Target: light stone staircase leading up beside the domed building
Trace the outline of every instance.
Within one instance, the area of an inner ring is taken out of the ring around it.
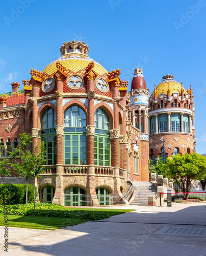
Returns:
[[[137,193],[131,203],[131,205],[148,205],[148,194],[155,195],[157,188],[155,185],[147,181],[134,181],[134,187],[137,188]]]

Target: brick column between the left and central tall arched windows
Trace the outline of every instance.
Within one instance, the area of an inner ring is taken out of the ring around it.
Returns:
[[[63,174],[64,164],[64,121],[63,121],[63,76],[56,78],[57,85],[57,125],[56,125],[56,136],[57,136],[57,174]]]

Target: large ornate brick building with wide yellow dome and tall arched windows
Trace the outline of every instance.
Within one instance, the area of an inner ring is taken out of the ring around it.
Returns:
[[[35,181],[42,202],[110,204],[122,200],[131,176],[149,181],[149,92],[142,69],[127,94],[120,70],[108,72],[88,51],[84,41],[65,42],[60,58],[42,72],[31,70],[24,90],[14,82],[12,93],[0,95],[2,157],[23,132],[32,135],[33,147],[45,142],[45,173]],[[13,173],[0,182],[23,179]]]

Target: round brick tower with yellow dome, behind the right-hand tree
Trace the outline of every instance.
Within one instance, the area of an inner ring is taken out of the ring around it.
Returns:
[[[149,157],[171,157],[195,152],[194,101],[190,86],[185,90],[173,75],[163,81],[149,97]],[[164,142],[164,150],[163,150]]]

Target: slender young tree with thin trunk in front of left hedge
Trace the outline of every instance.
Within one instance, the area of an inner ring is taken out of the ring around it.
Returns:
[[[32,143],[32,136],[25,133],[20,134],[20,146],[14,148],[14,152],[10,153],[10,156],[14,158],[14,163],[10,163],[16,172],[25,177],[26,180],[26,204],[28,204],[28,180],[34,178],[34,209],[35,209],[35,178],[39,174],[44,172],[45,164],[45,147],[44,142],[41,143],[41,147],[36,146],[34,152],[27,150],[27,147]],[[20,161],[19,161],[20,159]]]

